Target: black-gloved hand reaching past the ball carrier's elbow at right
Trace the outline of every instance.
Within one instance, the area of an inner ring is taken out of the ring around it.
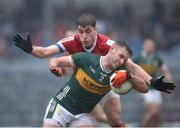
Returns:
[[[164,76],[158,77],[157,79],[150,80],[151,86],[156,90],[171,93],[175,89],[175,85],[173,82],[165,82],[163,81]]]

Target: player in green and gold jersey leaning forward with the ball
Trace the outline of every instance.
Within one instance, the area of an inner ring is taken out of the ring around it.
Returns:
[[[50,70],[58,66],[76,68],[67,84],[53,97],[55,105],[48,107],[45,121],[56,120],[61,126],[66,126],[77,116],[93,110],[101,98],[111,90],[109,78],[112,73],[123,66],[130,57],[130,50],[125,43],[121,43],[115,43],[105,56],[78,53],[50,59]],[[147,92],[148,87],[141,78],[131,74],[131,79],[137,82],[140,91]]]

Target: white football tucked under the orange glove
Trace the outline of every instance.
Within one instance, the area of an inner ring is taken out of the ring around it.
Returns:
[[[113,73],[110,77],[110,86],[113,92],[123,95],[123,94],[127,94],[129,91],[131,91],[132,89],[132,84],[128,81],[125,81],[122,85],[119,85],[119,87],[115,88],[112,86],[112,82],[111,80],[116,76],[116,73]]]

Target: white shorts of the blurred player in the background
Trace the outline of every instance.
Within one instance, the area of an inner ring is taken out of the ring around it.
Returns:
[[[154,89],[149,90],[148,93],[142,94],[144,98],[145,104],[155,103],[161,104],[162,103],[162,95],[161,92],[156,91]]]

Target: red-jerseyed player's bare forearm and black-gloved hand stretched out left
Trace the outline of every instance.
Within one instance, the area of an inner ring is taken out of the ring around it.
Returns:
[[[47,58],[59,53],[59,49],[55,45],[48,47],[33,46],[29,34],[27,34],[26,38],[23,38],[20,34],[16,34],[13,37],[13,41],[18,48],[37,58]]]

